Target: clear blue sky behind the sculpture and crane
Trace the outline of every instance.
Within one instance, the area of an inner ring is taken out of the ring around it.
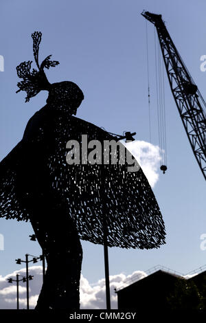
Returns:
[[[206,54],[205,1],[59,0],[1,1],[0,72],[1,146],[3,159],[21,140],[27,120],[45,105],[46,92],[29,103],[15,93],[16,65],[33,60],[31,34],[43,32],[40,61],[52,54],[60,65],[47,71],[49,82],[71,80],[84,92],[77,116],[113,133],[136,131],[149,141],[146,75],[146,22],[142,10],[163,15],[185,65],[206,99],[206,72],[200,58]],[[148,23],[152,144],[158,145],[155,95],[154,27]],[[146,270],[164,265],[186,273],[206,263],[200,236],[206,233],[205,180],[190,148],[172,93],[165,78],[168,171],[159,174],[154,192],[163,214],[166,245],[155,250],[109,248],[110,274]],[[0,219],[5,250],[0,251],[0,275],[19,269],[15,258],[38,255],[31,242],[30,223]],[[89,282],[104,277],[103,247],[82,241],[82,274]]]

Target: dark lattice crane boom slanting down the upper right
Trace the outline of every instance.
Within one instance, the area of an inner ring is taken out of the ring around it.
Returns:
[[[196,161],[206,180],[206,104],[177,51],[161,14],[142,12],[157,29],[170,88]]]

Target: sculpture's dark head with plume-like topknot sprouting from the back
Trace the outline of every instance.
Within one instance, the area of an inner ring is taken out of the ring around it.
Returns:
[[[66,110],[69,114],[75,114],[84,99],[82,90],[73,82],[65,81],[50,84],[47,80],[44,68],[55,67],[59,64],[57,60],[50,60],[52,55],[49,55],[43,60],[41,65],[38,64],[38,49],[41,43],[41,32],[34,32],[33,38],[33,52],[34,59],[36,61],[37,69],[31,69],[32,61],[21,63],[16,67],[17,75],[19,78],[23,78],[21,82],[18,82],[17,86],[19,90],[26,91],[27,97],[25,102],[28,102],[30,98],[36,96],[41,90],[49,91],[47,98],[47,104],[50,107]]]

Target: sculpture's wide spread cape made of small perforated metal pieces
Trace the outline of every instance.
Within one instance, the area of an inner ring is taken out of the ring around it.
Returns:
[[[163,219],[141,168],[128,172],[127,164],[104,165],[102,174],[102,165],[67,164],[67,142],[81,142],[86,134],[88,142],[113,139],[98,126],[47,106],[35,113],[21,142],[0,163],[0,216],[27,221],[30,212],[21,196],[58,195],[83,240],[103,244],[104,223],[110,247],[163,245]]]

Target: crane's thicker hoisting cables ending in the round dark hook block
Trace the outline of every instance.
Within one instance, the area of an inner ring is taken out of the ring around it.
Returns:
[[[166,122],[165,122],[165,87],[164,87],[164,66],[161,55],[160,45],[157,43],[155,31],[155,74],[156,74],[156,91],[157,91],[157,120],[159,134],[159,153],[160,168],[165,173],[167,169],[167,142],[166,142]]]

